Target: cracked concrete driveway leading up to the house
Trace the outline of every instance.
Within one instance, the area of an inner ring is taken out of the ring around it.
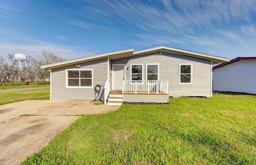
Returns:
[[[106,113],[119,107],[81,100],[26,100],[0,105],[0,165],[19,164],[38,152],[80,117],[76,115]]]

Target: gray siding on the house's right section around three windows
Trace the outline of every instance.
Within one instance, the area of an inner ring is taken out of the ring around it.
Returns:
[[[143,80],[146,80],[146,64],[159,64],[160,80],[168,80],[170,97],[206,96],[211,97],[211,61],[186,55],[154,52],[112,60],[112,64],[125,64],[126,80],[130,80],[130,64],[144,64]],[[192,84],[179,84],[179,64],[193,64]]]

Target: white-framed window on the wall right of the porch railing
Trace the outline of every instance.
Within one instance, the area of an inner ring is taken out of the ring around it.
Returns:
[[[192,84],[192,64],[180,64],[180,84]]]

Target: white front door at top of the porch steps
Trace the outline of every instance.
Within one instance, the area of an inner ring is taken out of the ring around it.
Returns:
[[[122,90],[124,80],[124,66],[113,65],[113,89]]]

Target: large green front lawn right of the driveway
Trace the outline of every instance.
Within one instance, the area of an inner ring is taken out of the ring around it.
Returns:
[[[172,98],[77,119],[22,164],[255,164],[256,96]]]

